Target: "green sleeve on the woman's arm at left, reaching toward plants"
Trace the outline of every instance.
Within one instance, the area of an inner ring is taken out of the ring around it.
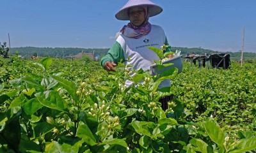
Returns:
[[[101,58],[101,66],[104,66],[106,61],[115,62],[116,64],[120,61],[124,62],[124,50],[117,41],[115,41],[114,45],[109,49],[108,54]]]

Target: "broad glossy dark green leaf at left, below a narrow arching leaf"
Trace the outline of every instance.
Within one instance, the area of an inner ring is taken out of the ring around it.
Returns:
[[[38,92],[35,96],[42,105],[54,110],[65,112],[68,108],[67,102],[56,91]]]

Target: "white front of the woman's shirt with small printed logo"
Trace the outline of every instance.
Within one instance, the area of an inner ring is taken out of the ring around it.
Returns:
[[[143,69],[147,71],[155,61],[159,61],[157,54],[147,47],[159,48],[164,45],[166,35],[159,25],[152,25],[150,33],[141,38],[134,39],[120,34],[116,41],[124,51],[124,58],[126,65],[133,65],[134,69]],[[129,59],[129,60],[128,60]],[[134,76],[135,74],[132,74]],[[130,80],[126,80],[127,87],[132,85]],[[170,87],[170,80],[163,80],[159,88]]]

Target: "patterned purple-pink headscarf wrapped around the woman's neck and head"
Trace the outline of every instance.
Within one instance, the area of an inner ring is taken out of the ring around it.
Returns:
[[[151,24],[148,22],[149,16],[147,6],[142,6],[142,8],[145,10],[144,24],[140,25],[140,27],[137,27],[133,25],[131,22],[129,22],[129,24],[124,25],[124,27],[120,31],[122,34],[124,34],[127,37],[138,39],[142,36],[147,35],[151,31]]]

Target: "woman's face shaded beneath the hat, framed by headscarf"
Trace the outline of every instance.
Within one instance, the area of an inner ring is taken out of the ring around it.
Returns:
[[[135,6],[129,9],[130,22],[139,27],[145,20],[145,10],[140,6]]]

